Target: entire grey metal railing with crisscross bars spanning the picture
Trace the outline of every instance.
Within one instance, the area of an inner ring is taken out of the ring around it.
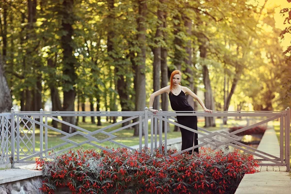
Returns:
[[[228,132],[227,130],[210,131],[207,129],[199,128],[194,130],[178,124],[175,116],[198,116],[198,117],[245,117],[245,118],[264,118],[261,121],[253,122],[254,124],[245,126],[242,129]],[[94,116],[94,117],[108,117],[108,116],[126,116],[127,119],[111,124],[109,126],[90,131],[83,129],[79,126],[75,126],[68,122],[65,122],[58,117],[64,116]],[[252,129],[260,125],[266,125],[268,122],[278,120],[280,123],[280,157],[274,156],[270,153],[263,152],[254,147],[247,146],[240,142],[241,137],[236,134]],[[67,133],[61,129],[57,129],[49,125],[49,121],[67,125],[72,129],[76,129],[76,132]],[[122,123],[129,122],[130,124],[124,127],[120,127]],[[259,160],[264,161],[261,165],[273,165],[273,166],[286,166],[287,171],[290,171],[290,109],[285,111],[274,112],[164,112],[160,111],[157,114],[148,112],[147,108],[141,112],[15,112],[11,109],[11,113],[0,113],[0,164],[7,164],[11,160],[14,162],[34,162],[35,157],[45,157],[49,151],[53,149],[59,149],[59,152],[64,152],[68,149],[73,149],[82,145],[90,145],[109,152],[111,149],[102,146],[104,142],[110,142],[115,146],[126,147],[130,150],[134,148],[115,141],[117,138],[114,133],[128,129],[135,125],[139,129],[139,150],[142,150],[143,146],[148,148],[151,154],[155,149],[162,151],[164,146],[165,153],[167,153],[167,128],[168,124],[176,125],[184,129],[198,133],[199,144],[190,147],[186,150],[181,150],[176,154],[180,154],[184,151],[192,150],[196,147],[212,146],[214,148],[220,146],[231,146],[240,149],[246,153],[257,156]],[[37,126],[39,128],[37,128]],[[113,129],[114,128],[114,129]],[[109,130],[108,130],[109,129]],[[164,129],[164,133],[162,132]],[[39,130],[39,137],[38,131]],[[63,141],[56,146],[49,147],[48,137],[49,130],[55,134],[62,134],[63,137],[59,138],[59,141]],[[150,133],[149,131],[150,130]],[[159,130],[159,131],[158,131]],[[107,136],[106,138],[99,139],[97,135],[102,134]],[[144,139],[143,135],[144,134]],[[150,138],[149,138],[150,134]],[[162,134],[162,135],[159,135]],[[85,138],[81,142],[70,140],[72,137],[81,136]],[[35,139],[39,138],[39,141]],[[220,138],[217,138],[220,137]],[[39,142],[39,143],[38,143]],[[284,147],[285,143],[285,147]],[[39,145],[38,145],[39,144]],[[64,147],[65,146],[65,147]]]

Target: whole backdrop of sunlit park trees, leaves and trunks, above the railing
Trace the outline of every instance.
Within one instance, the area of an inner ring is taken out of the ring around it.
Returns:
[[[39,111],[48,100],[52,111],[85,101],[91,111],[141,111],[180,69],[182,85],[203,91],[210,109],[285,109],[291,47],[283,53],[279,37],[291,26],[276,28],[268,3],[3,0],[0,52],[13,103],[22,111]],[[154,106],[168,110],[167,101]]]

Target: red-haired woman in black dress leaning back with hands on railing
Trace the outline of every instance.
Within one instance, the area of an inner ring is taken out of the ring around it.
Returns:
[[[195,98],[199,104],[202,106],[203,110],[207,113],[212,113],[211,110],[207,109],[202,102],[202,100],[197,97],[189,88],[185,86],[181,86],[181,76],[182,73],[179,70],[175,70],[171,74],[170,85],[154,92],[150,95],[149,98],[149,111],[153,113],[157,113],[158,110],[153,109],[153,103],[156,96],[161,95],[163,93],[167,93],[169,95],[171,107],[174,111],[194,111],[192,106],[189,105],[186,94]],[[191,129],[197,130],[197,116],[177,116],[178,123],[189,127]],[[195,141],[195,146],[198,145],[198,135],[197,133],[180,128],[182,135],[182,147],[181,150],[187,149],[193,146],[193,141]],[[198,148],[194,149],[195,152],[199,153]],[[191,151],[189,151],[191,153]]]

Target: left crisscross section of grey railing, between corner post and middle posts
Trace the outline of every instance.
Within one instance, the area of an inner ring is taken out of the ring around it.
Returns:
[[[16,162],[33,162],[32,158],[34,157],[44,157],[51,150],[57,149],[58,152],[64,152],[68,149],[73,149],[78,146],[85,144],[112,152],[111,149],[102,146],[104,142],[111,142],[117,146],[126,147],[128,149],[134,150],[133,148],[114,141],[114,138],[117,136],[114,135],[115,132],[118,132],[123,129],[128,129],[135,125],[139,125],[140,134],[142,134],[142,124],[144,122],[144,117],[142,116],[144,112],[100,112],[100,113],[90,113],[90,112],[40,112],[40,113],[14,113],[16,116]],[[128,118],[119,122],[116,122],[112,125],[106,126],[102,129],[97,129],[95,131],[90,131],[83,129],[79,126],[73,125],[71,123],[65,122],[64,120],[56,118],[57,116],[127,116]],[[62,125],[66,125],[77,131],[73,133],[65,132],[61,129],[54,128],[48,124],[49,120],[54,120]],[[106,131],[107,129],[114,128],[118,125],[121,125],[125,122],[132,121],[131,124],[114,129],[111,131]],[[39,126],[39,151],[35,151],[35,126]],[[62,134],[62,137],[59,137],[59,140],[63,142],[56,146],[49,146],[48,142],[48,130]],[[99,139],[94,137],[98,134],[103,134],[107,136],[105,138]],[[75,142],[72,139],[76,139],[78,136],[79,139],[85,139],[81,142]],[[142,144],[142,136],[140,136],[140,142]]]

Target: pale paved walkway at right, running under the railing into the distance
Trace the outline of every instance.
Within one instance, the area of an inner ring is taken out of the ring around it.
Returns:
[[[276,157],[280,156],[280,146],[274,129],[265,131],[258,149]],[[260,172],[244,175],[235,194],[291,193],[291,177],[285,166],[260,166],[258,170]]]

